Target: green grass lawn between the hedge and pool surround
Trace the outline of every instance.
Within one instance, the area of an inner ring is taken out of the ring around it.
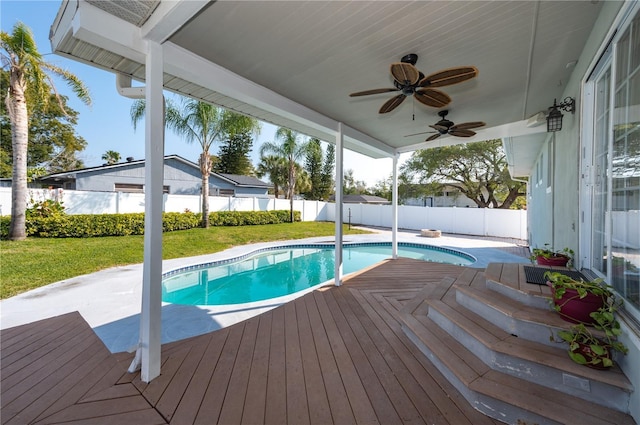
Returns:
[[[211,254],[238,245],[333,235],[327,222],[211,227],[163,235],[164,259]],[[367,233],[344,227],[345,234]],[[143,237],[0,241],[0,298],[114,266],[142,262]]]

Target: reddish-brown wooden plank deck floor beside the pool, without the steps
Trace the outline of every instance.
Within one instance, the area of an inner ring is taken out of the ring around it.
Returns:
[[[398,311],[466,269],[399,259],[163,346],[150,384],[77,314],[1,332],[5,424],[495,424],[412,344]]]

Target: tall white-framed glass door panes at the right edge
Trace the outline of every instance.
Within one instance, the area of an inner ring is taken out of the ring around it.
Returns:
[[[590,80],[589,267],[606,277],[640,319],[640,9]]]

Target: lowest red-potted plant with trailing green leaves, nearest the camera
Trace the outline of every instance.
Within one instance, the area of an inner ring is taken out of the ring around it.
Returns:
[[[569,343],[569,357],[574,362],[594,369],[608,369],[613,366],[613,351],[627,354],[628,348],[617,340],[621,330],[615,312],[621,305],[622,300],[610,298],[603,307],[591,313],[592,328],[579,323],[558,332],[561,340]]]

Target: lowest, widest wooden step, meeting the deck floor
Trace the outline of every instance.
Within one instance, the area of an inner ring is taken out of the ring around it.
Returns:
[[[428,316],[402,312],[401,317],[409,338],[487,416],[512,424],[635,423],[625,413],[491,369]]]

